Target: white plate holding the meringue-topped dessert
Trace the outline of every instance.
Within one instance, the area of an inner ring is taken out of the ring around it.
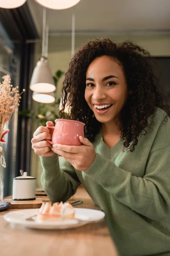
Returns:
[[[6,213],[3,218],[13,224],[21,224],[24,227],[33,228],[33,229],[43,229],[43,230],[64,230],[69,228],[81,227],[85,224],[88,224],[88,221],[100,221],[105,217],[105,213],[98,210],[84,209],[84,208],[74,208],[75,209],[75,218],[81,218],[86,223],[78,223],[74,219],[68,219],[68,221],[26,221],[26,218],[29,218],[33,215],[36,215],[38,209],[26,209],[18,210],[14,212]]]

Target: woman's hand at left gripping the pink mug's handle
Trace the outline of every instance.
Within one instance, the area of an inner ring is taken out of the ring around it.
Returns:
[[[54,126],[53,122],[47,122],[48,126]],[[52,135],[50,134],[50,130],[47,127],[40,126],[33,134],[33,138],[31,140],[32,148],[35,151],[35,154],[41,157],[52,157],[55,152],[51,150],[52,145],[46,141],[51,140]]]

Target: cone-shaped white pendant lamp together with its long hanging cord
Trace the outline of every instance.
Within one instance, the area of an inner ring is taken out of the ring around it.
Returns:
[[[56,87],[51,70],[48,66],[48,26],[46,26],[46,9],[43,9],[42,56],[34,68],[30,89],[37,93],[51,93]],[[36,94],[37,95],[37,94]],[[37,99],[37,96],[35,97]]]

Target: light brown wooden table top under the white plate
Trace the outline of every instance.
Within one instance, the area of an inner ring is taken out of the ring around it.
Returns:
[[[99,209],[85,189],[79,187],[75,200],[81,208]],[[72,230],[31,230],[3,219],[0,212],[0,256],[117,256],[105,221]]]

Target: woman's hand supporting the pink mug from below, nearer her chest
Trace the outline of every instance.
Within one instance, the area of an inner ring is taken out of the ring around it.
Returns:
[[[80,136],[79,140],[84,145],[68,146],[54,144],[51,150],[56,154],[64,157],[65,160],[71,163],[75,169],[79,171],[86,171],[88,167],[93,163],[96,157],[96,152],[94,150],[93,144],[87,138]]]

